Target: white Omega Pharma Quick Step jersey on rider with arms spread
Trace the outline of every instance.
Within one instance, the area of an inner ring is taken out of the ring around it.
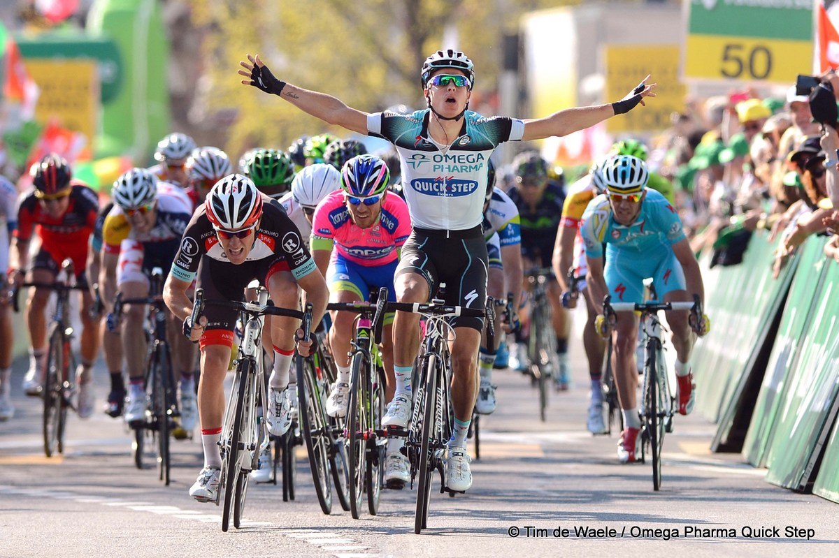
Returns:
[[[409,115],[377,112],[367,116],[367,134],[383,137],[399,152],[402,187],[414,227],[468,230],[481,225],[492,152],[519,141],[524,121],[466,111],[460,134],[440,147],[431,137],[431,111]]]

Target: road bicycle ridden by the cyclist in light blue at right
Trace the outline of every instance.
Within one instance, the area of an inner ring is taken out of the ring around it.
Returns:
[[[641,313],[641,328],[644,328],[644,385],[642,390],[641,436],[643,437],[641,461],[645,462],[646,450],[653,462],[653,490],[661,486],[661,447],[665,432],[673,431],[673,416],[677,409],[675,395],[670,390],[667,364],[664,361],[664,347],[661,339],[662,325],[659,311],[687,310],[701,321],[702,304],[698,295],[694,302],[611,302],[607,295],[603,300],[603,313],[610,319],[616,312]]]

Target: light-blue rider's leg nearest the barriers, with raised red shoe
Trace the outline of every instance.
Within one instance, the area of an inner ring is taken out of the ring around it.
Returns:
[[[685,290],[685,273],[675,255],[664,260],[655,277],[655,287],[663,297],[664,302],[691,302],[689,292]],[[664,281],[667,277],[668,281]],[[693,373],[688,366],[690,353],[696,341],[696,334],[688,323],[689,313],[686,310],[665,313],[667,325],[673,333],[672,342],[676,352],[675,373],[677,395],[676,401],[681,415],[688,415],[696,404],[696,385],[693,383]]]

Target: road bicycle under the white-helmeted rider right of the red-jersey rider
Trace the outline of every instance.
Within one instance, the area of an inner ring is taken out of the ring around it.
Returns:
[[[160,267],[155,267],[149,277],[149,296],[123,298],[117,292],[113,302],[113,315],[117,321],[122,317],[122,309],[127,304],[148,305],[149,315],[146,333],[148,355],[143,387],[146,392],[146,411],[143,419],[133,421],[129,426],[134,431],[132,444],[134,464],[143,468],[143,455],[146,442],[156,447],[159,478],[169,486],[171,459],[169,454],[170,435],[175,421],[180,417],[178,398],[175,396],[175,375],[172,369],[172,350],[166,333],[169,308],[163,300],[164,275]]]

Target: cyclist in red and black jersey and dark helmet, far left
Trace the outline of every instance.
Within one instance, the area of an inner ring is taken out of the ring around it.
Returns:
[[[70,165],[58,155],[50,153],[33,165],[34,189],[22,194],[18,203],[18,227],[13,232],[9,249],[8,282],[11,285],[28,282],[50,283],[60,271],[61,261],[70,258],[76,271],[76,282],[86,285],[85,265],[88,242],[99,211],[96,192],[79,180],[73,180]],[[33,236],[38,249],[29,260],[29,243]],[[76,370],[79,385],[79,416],[86,418],[93,411],[91,367],[99,345],[97,320],[87,308],[93,298],[82,291],[81,305],[81,364]],[[29,327],[29,371],[23,379],[27,395],[39,395],[44,375],[46,354],[45,310],[50,291],[34,288],[27,302],[26,323]]]

